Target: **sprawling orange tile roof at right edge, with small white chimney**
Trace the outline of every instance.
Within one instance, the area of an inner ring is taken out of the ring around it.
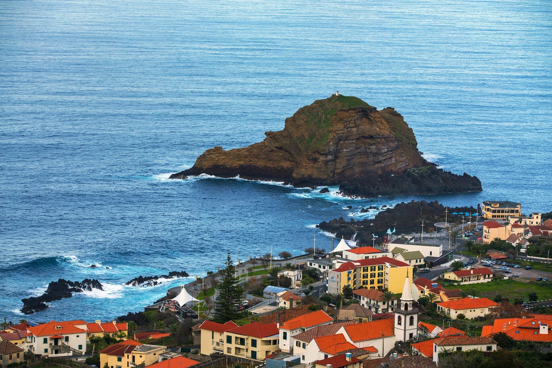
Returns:
[[[548,324],[548,333],[539,333],[539,322]],[[481,336],[492,337],[503,332],[514,340],[552,342],[552,316],[542,314],[538,318],[499,318],[491,326],[483,326]]]

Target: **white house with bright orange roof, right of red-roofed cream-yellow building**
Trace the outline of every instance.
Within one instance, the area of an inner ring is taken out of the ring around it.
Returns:
[[[285,321],[279,326],[279,349],[290,353],[295,345],[294,336],[312,328],[331,324],[333,318],[324,311],[315,311]],[[294,353],[297,354],[297,353]]]

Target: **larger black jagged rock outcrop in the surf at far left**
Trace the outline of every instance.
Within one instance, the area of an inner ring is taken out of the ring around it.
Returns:
[[[96,279],[84,279],[82,282],[63,279],[52,281],[48,284],[43,295],[22,299],[23,308],[21,308],[21,311],[24,314],[43,311],[48,307],[46,303],[61,300],[62,298],[70,298],[73,296],[73,292],[91,291],[92,289],[103,290],[103,286]]]

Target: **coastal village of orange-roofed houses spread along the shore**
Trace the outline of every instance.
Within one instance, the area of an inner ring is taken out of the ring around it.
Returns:
[[[426,231],[389,231],[372,245],[342,236],[295,257],[229,253],[114,321],[3,321],[0,365],[548,366],[552,214],[510,201],[478,208],[447,208]]]

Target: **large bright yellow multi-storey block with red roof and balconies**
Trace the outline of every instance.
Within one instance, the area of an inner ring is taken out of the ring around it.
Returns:
[[[346,262],[328,271],[326,291],[328,294],[341,294],[343,287],[349,285],[353,290],[364,286],[399,293],[402,292],[407,272],[412,275],[412,265],[390,257]]]

